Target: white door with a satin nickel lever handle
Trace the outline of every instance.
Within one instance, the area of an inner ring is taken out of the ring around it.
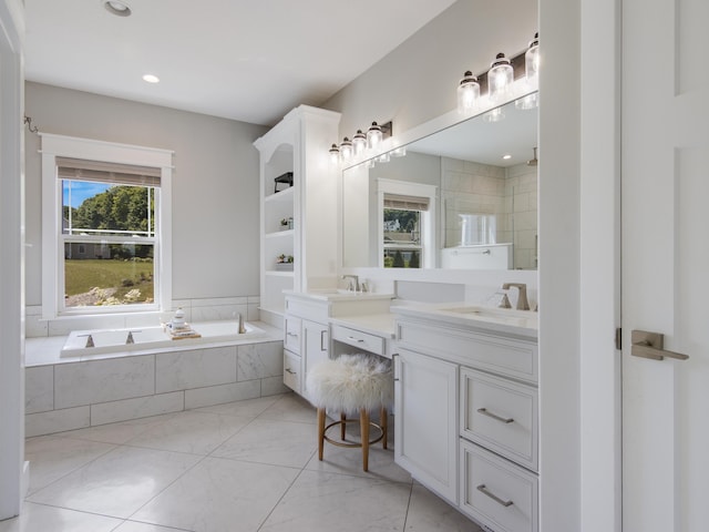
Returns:
[[[621,4],[623,530],[703,532],[709,1]],[[633,356],[631,330],[664,334],[665,348],[689,358]]]

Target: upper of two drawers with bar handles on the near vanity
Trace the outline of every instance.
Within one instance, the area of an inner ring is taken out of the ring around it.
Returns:
[[[461,368],[460,390],[461,436],[537,471],[536,388]]]

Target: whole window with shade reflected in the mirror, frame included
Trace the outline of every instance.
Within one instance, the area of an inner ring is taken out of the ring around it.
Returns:
[[[434,266],[435,186],[378,180],[380,266]]]

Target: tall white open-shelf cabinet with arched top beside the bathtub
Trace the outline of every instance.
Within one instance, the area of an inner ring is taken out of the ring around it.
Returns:
[[[277,327],[284,325],[284,290],[305,291],[336,275],[337,246],[323,243],[337,242],[337,174],[326,155],[339,121],[340,113],[300,105],[254,142],[260,158],[260,319]],[[279,263],[281,255],[292,262]]]

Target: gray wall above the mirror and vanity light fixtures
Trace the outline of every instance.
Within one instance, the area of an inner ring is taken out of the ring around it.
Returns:
[[[322,106],[340,111],[340,136],[372,120],[394,135],[455,109],[465,70],[485,72],[497,52],[524,51],[537,28],[534,0],[460,0]]]

